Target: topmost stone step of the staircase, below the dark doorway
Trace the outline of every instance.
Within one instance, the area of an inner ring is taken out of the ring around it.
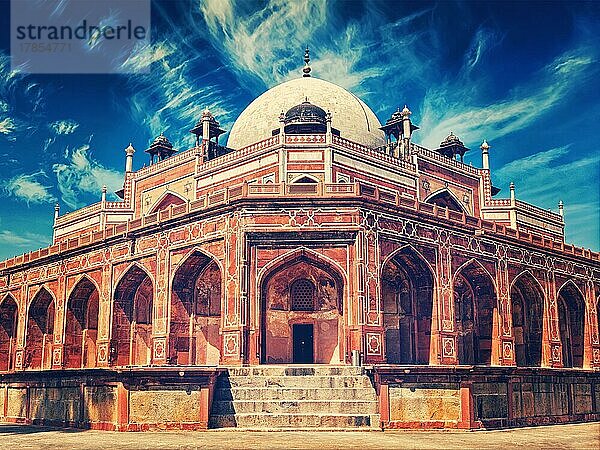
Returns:
[[[256,366],[256,367],[230,367],[227,369],[231,377],[248,376],[361,376],[365,369],[354,366]]]

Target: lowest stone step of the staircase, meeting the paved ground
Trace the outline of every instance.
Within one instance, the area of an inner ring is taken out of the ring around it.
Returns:
[[[227,414],[211,415],[211,428],[298,429],[298,428],[372,428],[379,429],[379,415],[355,414]]]

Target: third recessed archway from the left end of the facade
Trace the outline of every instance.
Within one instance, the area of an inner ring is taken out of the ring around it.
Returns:
[[[64,351],[67,368],[96,366],[98,302],[98,288],[83,277],[67,301]]]

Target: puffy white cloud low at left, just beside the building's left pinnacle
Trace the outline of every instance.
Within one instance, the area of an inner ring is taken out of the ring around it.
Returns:
[[[85,205],[82,194],[96,194],[100,197],[102,186],[106,185],[114,192],[123,185],[123,175],[116,170],[106,168],[90,158],[88,144],[72,152],[66,149],[67,163],[52,166],[56,174],[61,200],[75,209]]]

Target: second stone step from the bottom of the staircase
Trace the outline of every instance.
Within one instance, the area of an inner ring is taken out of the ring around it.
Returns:
[[[375,400],[234,400],[213,401],[215,415],[270,413],[270,414],[376,414]]]

